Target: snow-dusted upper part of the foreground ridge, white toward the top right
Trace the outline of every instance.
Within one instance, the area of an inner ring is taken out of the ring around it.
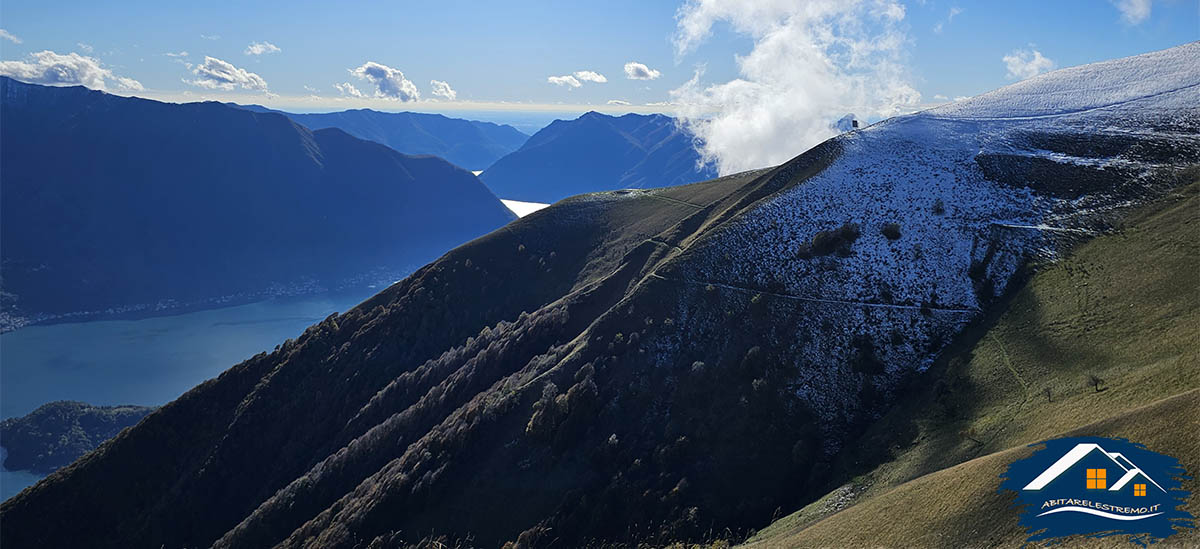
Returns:
[[[805,309],[792,342],[769,343],[794,350],[797,391],[834,429],[866,385],[887,392],[928,367],[1030,259],[1104,230],[1114,209],[1200,162],[1198,54],[1067,68],[844,134],[823,171],[659,273]],[[864,352],[883,375],[860,374]]]

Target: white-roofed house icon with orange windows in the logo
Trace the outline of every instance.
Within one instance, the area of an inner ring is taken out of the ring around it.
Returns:
[[[1068,475],[1068,471],[1082,470],[1082,476],[1078,473]],[[1109,475],[1112,471],[1114,475]],[[1147,485],[1152,485],[1166,493],[1162,484],[1154,482],[1145,471],[1134,465],[1120,452],[1108,452],[1100,445],[1093,442],[1081,442],[1070,448],[1069,452],[1058,458],[1042,475],[1022,488],[1022,490],[1040,490],[1055,482],[1063,475],[1068,475],[1069,482],[1079,482],[1079,487],[1086,490],[1121,491],[1126,487],[1133,489],[1134,496],[1145,496]],[[1109,484],[1110,478],[1117,481]],[[1130,484],[1132,483],[1132,484]]]

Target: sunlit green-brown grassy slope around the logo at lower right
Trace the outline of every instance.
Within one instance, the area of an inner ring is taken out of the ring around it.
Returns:
[[[1026,445],[1068,434],[1129,438],[1200,471],[1198,192],[1132,212],[1032,276],[858,442],[834,475],[853,481],[748,545],[1019,544],[997,475]]]

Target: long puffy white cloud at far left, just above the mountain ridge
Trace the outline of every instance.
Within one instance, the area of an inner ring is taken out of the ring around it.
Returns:
[[[100,65],[95,58],[77,53],[56,54],[50,50],[29,55],[29,61],[0,61],[0,74],[22,82],[52,86],[83,85],[94,90],[107,90],[112,82],[122,90],[142,90],[142,83],[118,77]]]

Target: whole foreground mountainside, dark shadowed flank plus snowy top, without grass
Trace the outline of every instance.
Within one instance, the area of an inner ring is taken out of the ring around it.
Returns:
[[[563,200],[6,501],[0,541],[742,538],[848,481],[854,445],[1031,266],[1194,180],[1198,49],[1057,71],[769,170]]]

